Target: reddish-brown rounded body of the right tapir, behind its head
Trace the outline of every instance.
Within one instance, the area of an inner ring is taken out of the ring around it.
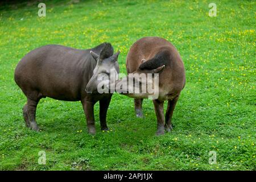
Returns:
[[[160,54],[163,53],[163,56]],[[164,59],[158,59],[163,57]],[[185,85],[185,70],[179,52],[167,40],[158,37],[145,37],[137,40],[131,46],[126,58],[127,73],[135,72],[142,64],[142,59],[152,61],[150,69],[166,65],[159,73],[159,88],[162,94],[167,96],[176,95]],[[146,63],[145,63],[146,64]],[[161,94],[161,93],[160,93]]]

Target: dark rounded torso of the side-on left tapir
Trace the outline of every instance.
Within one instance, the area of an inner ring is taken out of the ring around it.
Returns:
[[[27,97],[79,101],[95,66],[89,49],[48,45],[24,56],[14,78]],[[35,93],[40,96],[34,96]]]

